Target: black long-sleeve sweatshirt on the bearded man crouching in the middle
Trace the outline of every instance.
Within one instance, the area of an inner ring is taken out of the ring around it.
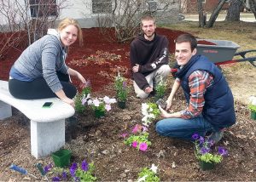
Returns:
[[[131,68],[136,64],[140,65],[138,72],[132,72],[132,77],[139,88],[144,90],[149,87],[145,77],[161,65],[168,65],[168,46],[168,39],[156,33],[152,41],[145,39],[144,35],[139,35],[131,42]]]

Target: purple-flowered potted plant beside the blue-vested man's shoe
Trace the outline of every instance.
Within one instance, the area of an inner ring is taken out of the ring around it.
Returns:
[[[224,147],[218,147],[218,153],[211,153],[213,146],[212,139],[204,139],[198,134],[193,134],[192,139],[195,140],[195,156],[202,162],[219,163],[223,160],[223,156],[228,154]]]

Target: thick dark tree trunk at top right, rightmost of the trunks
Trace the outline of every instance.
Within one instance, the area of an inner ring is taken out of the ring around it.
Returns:
[[[228,14],[225,18],[226,21],[240,21],[242,1],[241,0],[230,0],[230,6]]]

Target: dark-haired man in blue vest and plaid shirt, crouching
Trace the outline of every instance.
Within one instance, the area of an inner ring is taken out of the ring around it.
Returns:
[[[166,110],[160,107],[161,117],[156,131],[163,136],[191,139],[195,133],[217,143],[236,122],[234,99],[224,75],[207,57],[196,54],[197,41],[190,34],[175,40],[175,57],[179,69],[172,92],[166,100]],[[183,88],[188,107],[169,113],[177,89]]]

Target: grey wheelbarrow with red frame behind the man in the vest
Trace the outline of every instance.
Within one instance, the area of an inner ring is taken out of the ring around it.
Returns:
[[[240,46],[232,41],[226,40],[214,40],[214,39],[197,39],[197,54],[202,54],[207,56],[215,65],[225,65],[231,63],[238,63],[249,61],[254,67],[256,64],[256,56],[247,57],[248,53],[255,53],[256,49],[245,50],[241,52],[236,52],[237,48]],[[234,59],[234,56],[241,56],[241,59]],[[177,72],[177,65],[172,68],[172,76]]]

